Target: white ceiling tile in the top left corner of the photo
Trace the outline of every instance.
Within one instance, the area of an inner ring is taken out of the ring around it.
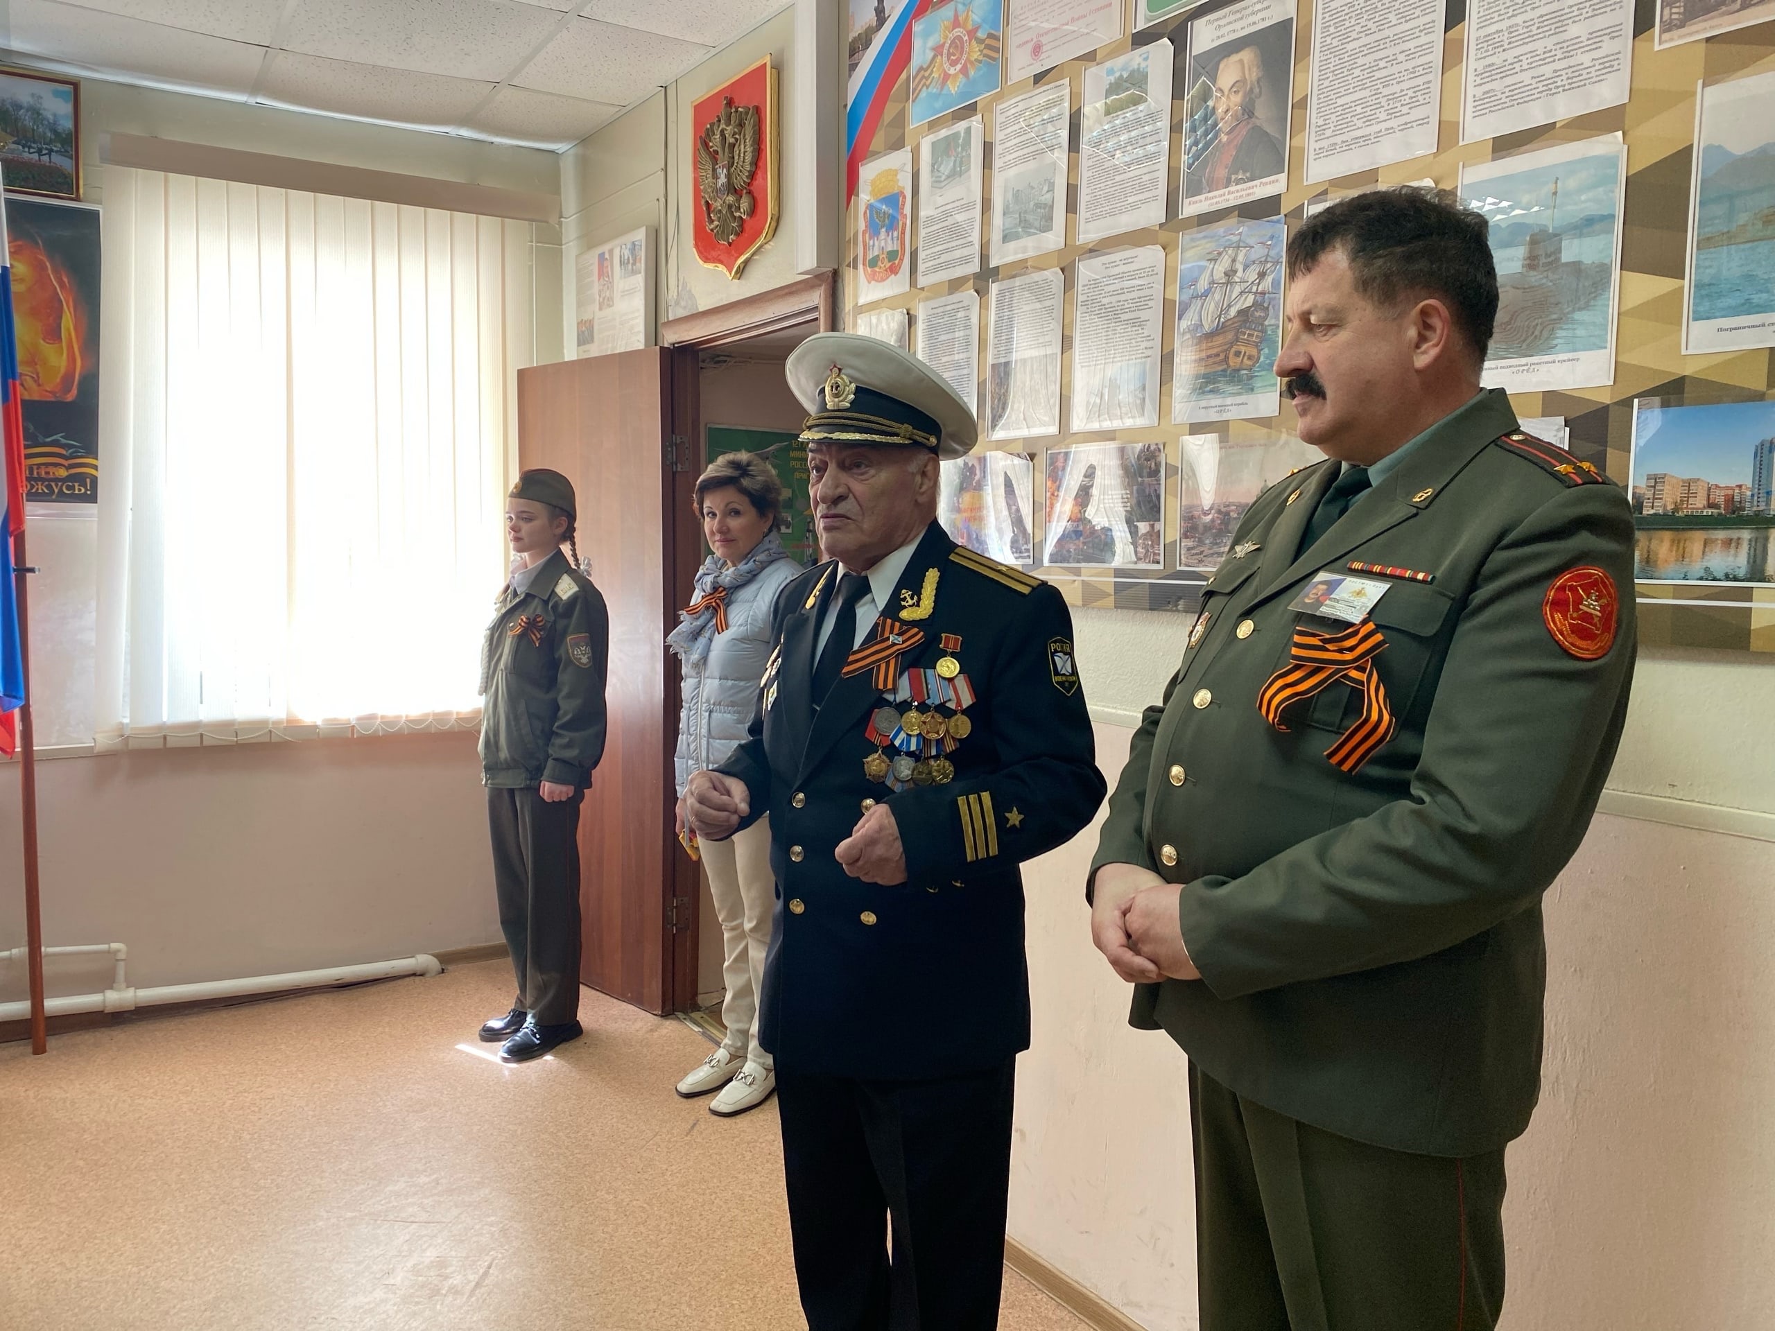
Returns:
[[[259,46],[53,0],[12,0],[11,11],[14,51],[96,73],[130,75],[135,83],[245,96],[264,60]]]

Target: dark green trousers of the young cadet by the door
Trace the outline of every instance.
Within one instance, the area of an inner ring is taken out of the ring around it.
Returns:
[[[536,786],[488,786],[499,928],[518,978],[518,1006],[541,1026],[579,1017],[579,806]]]

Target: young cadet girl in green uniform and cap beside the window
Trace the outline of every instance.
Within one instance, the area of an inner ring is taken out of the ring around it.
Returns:
[[[499,925],[518,997],[481,1028],[508,1063],[577,1038],[579,806],[604,756],[611,619],[579,571],[573,484],[524,472],[506,499],[517,564],[481,648],[481,781]],[[573,563],[561,552],[566,545]]]

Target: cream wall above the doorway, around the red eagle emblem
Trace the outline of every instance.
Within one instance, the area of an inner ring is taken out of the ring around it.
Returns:
[[[777,69],[779,220],[776,238],[753,254],[738,280],[731,280],[721,270],[705,268],[690,247],[692,209],[698,206],[690,103],[767,55]],[[575,256],[635,227],[657,229],[660,319],[770,291],[797,277],[795,185],[788,165],[799,133],[788,114],[793,75],[795,12],[783,9],[561,156],[563,348],[573,346]]]

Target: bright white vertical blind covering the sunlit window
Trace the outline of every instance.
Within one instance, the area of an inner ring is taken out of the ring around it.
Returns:
[[[472,726],[527,222],[105,167],[101,751]]]

